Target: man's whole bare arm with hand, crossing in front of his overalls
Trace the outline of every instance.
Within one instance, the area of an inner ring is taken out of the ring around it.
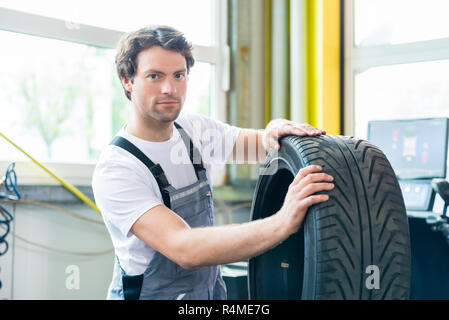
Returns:
[[[328,199],[314,195],[331,190],[333,178],[310,166],[301,169],[276,214],[255,221],[191,228],[164,205],[148,210],[131,232],[185,269],[242,261],[273,248],[298,231],[307,209]]]

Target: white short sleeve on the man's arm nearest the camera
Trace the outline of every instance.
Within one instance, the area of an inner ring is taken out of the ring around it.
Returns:
[[[125,237],[142,214],[163,204],[159,189],[149,178],[132,161],[106,161],[95,168],[92,188],[96,204],[103,218]]]

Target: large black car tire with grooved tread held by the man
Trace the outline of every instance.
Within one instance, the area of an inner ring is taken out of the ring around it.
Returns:
[[[383,152],[344,136],[287,136],[280,142],[264,163],[251,220],[276,213],[305,166],[322,166],[335,187],[319,192],[329,200],[309,208],[297,233],[250,259],[250,299],[408,299],[407,214]]]

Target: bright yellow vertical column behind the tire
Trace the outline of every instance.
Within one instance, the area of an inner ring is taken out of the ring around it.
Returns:
[[[340,134],[340,0],[306,0],[304,118]]]

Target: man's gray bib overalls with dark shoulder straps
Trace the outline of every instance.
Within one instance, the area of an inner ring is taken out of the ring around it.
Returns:
[[[184,219],[190,227],[213,226],[215,222],[212,190],[207,181],[201,155],[181,126],[176,122],[174,124],[189,151],[198,178],[197,182],[181,189],[171,186],[160,165],[155,165],[125,138],[117,136],[111,144],[132,153],[150,169],[159,185],[164,204]],[[127,275],[116,257],[108,299],[226,299],[226,285],[219,266],[185,270],[156,251],[141,275]]]

